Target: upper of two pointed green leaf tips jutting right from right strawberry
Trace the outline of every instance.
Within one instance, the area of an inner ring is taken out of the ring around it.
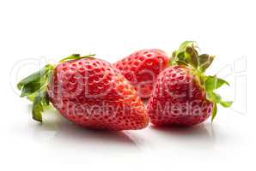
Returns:
[[[205,91],[214,91],[224,84],[229,85],[226,80],[216,78],[216,76],[207,76],[205,80]]]

